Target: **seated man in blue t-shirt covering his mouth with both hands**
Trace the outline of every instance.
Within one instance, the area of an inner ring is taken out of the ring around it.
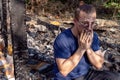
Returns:
[[[119,80],[110,71],[91,70],[102,68],[96,26],[96,10],[92,5],[81,5],[75,11],[74,27],[59,34],[54,42],[55,80]]]

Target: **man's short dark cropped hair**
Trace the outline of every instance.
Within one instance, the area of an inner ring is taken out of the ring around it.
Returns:
[[[76,8],[75,10],[75,19],[78,20],[79,18],[79,14],[80,14],[80,11],[83,11],[87,14],[90,14],[90,13],[93,13],[93,12],[96,12],[96,9],[94,6],[92,5],[89,5],[89,4],[83,4],[83,5],[80,5],[78,8]]]

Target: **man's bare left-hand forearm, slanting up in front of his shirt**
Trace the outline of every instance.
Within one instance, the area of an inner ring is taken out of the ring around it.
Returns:
[[[66,59],[59,67],[62,75],[67,76],[77,66],[84,53],[85,50],[78,49],[71,57]]]

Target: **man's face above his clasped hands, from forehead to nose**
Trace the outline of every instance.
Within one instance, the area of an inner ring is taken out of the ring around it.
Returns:
[[[82,30],[93,31],[93,28],[96,26],[96,12],[86,14],[83,11],[80,11],[79,20],[75,22],[77,30],[79,33]]]

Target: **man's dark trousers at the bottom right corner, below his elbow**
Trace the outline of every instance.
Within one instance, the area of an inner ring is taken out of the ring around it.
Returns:
[[[90,70],[86,76],[82,76],[74,80],[120,80],[120,73]]]

